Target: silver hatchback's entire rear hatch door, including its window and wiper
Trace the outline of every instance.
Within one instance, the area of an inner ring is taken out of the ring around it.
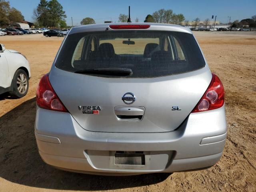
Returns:
[[[66,37],[49,75],[64,106],[89,131],[178,128],[212,78],[193,35],[105,29]]]

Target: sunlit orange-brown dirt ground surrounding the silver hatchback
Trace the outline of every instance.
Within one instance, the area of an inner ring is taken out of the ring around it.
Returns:
[[[195,36],[225,88],[228,138],[222,158],[207,170],[122,177],[64,172],[41,160],[34,137],[36,87],[63,38],[1,36],[7,49],[27,56],[32,78],[24,98],[0,96],[0,192],[256,191],[256,32]]]

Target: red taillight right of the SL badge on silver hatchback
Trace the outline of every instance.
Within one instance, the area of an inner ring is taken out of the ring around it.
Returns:
[[[215,74],[212,74],[212,81],[210,82],[210,85],[196,107],[192,110],[192,113],[222,107],[224,104],[224,94],[224,87],[220,79]]]

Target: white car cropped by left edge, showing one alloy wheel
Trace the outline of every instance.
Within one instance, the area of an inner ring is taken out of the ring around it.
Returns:
[[[9,92],[22,98],[28,92],[30,66],[27,58],[16,50],[7,50],[0,44],[0,94]]]

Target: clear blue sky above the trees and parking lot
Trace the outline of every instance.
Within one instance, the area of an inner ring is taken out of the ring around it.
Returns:
[[[10,6],[22,12],[26,21],[33,22],[33,9],[38,6],[40,0],[9,0]],[[131,6],[131,19],[136,18],[144,22],[148,14],[159,9],[172,9],[174,13],[182,13],[186,20],[192,21],[200,18],[211,19],[227,23],[228,16],[231,22],[251,18],[256,15],[256,0],[58,0],[66,12],[68,26],[80,25],[83,18],[91,17],[96,23],[104,21],[118,22],[120,13],[128,14],[128,6]]]

